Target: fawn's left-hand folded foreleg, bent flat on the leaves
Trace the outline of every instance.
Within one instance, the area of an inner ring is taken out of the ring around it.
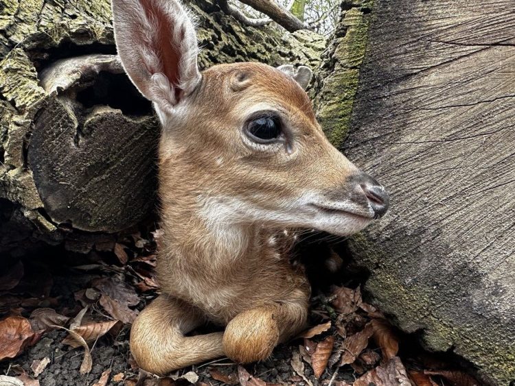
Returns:
[[[135,320],[130,351],[139,367],[155,374],[223,357],[222,333],[184,336],[203,321],[191,306],[160,295]]]

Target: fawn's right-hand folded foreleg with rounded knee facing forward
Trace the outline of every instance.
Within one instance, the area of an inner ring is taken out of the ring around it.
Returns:
[[[305,328],[307,317],[307,300],[274,302],[243,311],[225,328],[225,355],[238,363],[263,361],[277,343]]]

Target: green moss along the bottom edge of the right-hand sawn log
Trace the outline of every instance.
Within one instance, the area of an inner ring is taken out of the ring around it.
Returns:
[[[508,385],[515,379],[515,351],[497,330],[494,321],[464,324],[450,317],[435,300],[435,289],[427,285],[402,282],[400,269],[393,261],[382,265],[386,253],[380,245],[371,243],[366,234],[354,235],[349,241],[354,256],[373,272],[365,290],[374,294],[374,304],[381,311],[396,315],[400,328],[408,333],[422,331],[422,341],[431,350],[453,350],[480,369],[481,374]],[[494,360],[492,360],[494,359]]]

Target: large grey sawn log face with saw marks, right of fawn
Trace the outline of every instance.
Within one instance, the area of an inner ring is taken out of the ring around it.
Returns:
[[[515,2],[376,2],[342,149],[391,192],[351,243],[400,327],[515,380]]]

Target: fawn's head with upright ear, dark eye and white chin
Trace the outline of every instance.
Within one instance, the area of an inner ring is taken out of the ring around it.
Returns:
[[[113,0],[113,14],[124,68],[163,125],[161,195],[173,192],[163,200],[195,197],[213,222],[341,235],[385,213],[385,189],[325,138],[304,91],[306,67],[201,73],[194,26],[176,0]]]

